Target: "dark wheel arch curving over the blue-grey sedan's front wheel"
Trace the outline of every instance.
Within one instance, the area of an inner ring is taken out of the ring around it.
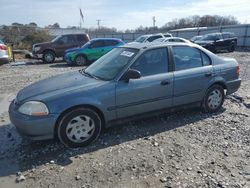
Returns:
[[[103,112],[102,112],[98,107],[96,107],[96,106],[94,106],[94,105],[89,105],[89,104],[76,105],[76,106],[72,106],[72,107],[70,107],[70,108],[64,110],[64,111],[59,115],[59,117],[58,117],[57,120],[56,120],[55,126],[54,126],[54,138],[57,138],[57,137],[58,137],[58,135],[57,135],[57,129],[58,129],[59,123],[60,123],[60,121],[62,120],[63,116],[64,116],[65,114],[67,114],[68,112],[70,112],[70,111],[72,111],[72,110],[74,110],[74,109],[77,109],[77,108],[88,108],[88,109],[91,109],[91,110],[93,110],[94,112],[96,112],[96,113],[100,116],[100,118],[101,118],[101,124],[102,124],[102,126],[105,127],[106,121],[105,121],[104,114],[103,114]]]

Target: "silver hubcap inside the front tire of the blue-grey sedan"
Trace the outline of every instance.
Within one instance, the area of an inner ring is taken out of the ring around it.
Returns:
[[[81,143],[88,140],[94,134],[94,130],[94,120],[89,116],[80,115],[68,123],[66,135],[72,142]]]

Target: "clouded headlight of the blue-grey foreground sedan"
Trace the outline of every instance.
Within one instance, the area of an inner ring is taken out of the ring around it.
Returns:
[[[29,101],[21,105],[18,111],[30,116],[46,116],[49,114],[47,106],[39,101]]]

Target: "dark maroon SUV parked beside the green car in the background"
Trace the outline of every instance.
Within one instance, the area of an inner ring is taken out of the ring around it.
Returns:
[[[45,63],[53,63],[56,57],[63,57],[65,50],[80,47],[89,41],[88,34],[60,35],[50,42],[34,44],[33,58],[42,59]]]

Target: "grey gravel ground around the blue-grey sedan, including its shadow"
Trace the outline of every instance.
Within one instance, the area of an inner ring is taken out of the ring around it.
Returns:
[[[243,80],[220,112],[133,121],[80,149],[23,139],[7,114],[19,89],[78,68],[0,66],[0,187],[250,187],[250,52],[218,55],[236,58]]]

